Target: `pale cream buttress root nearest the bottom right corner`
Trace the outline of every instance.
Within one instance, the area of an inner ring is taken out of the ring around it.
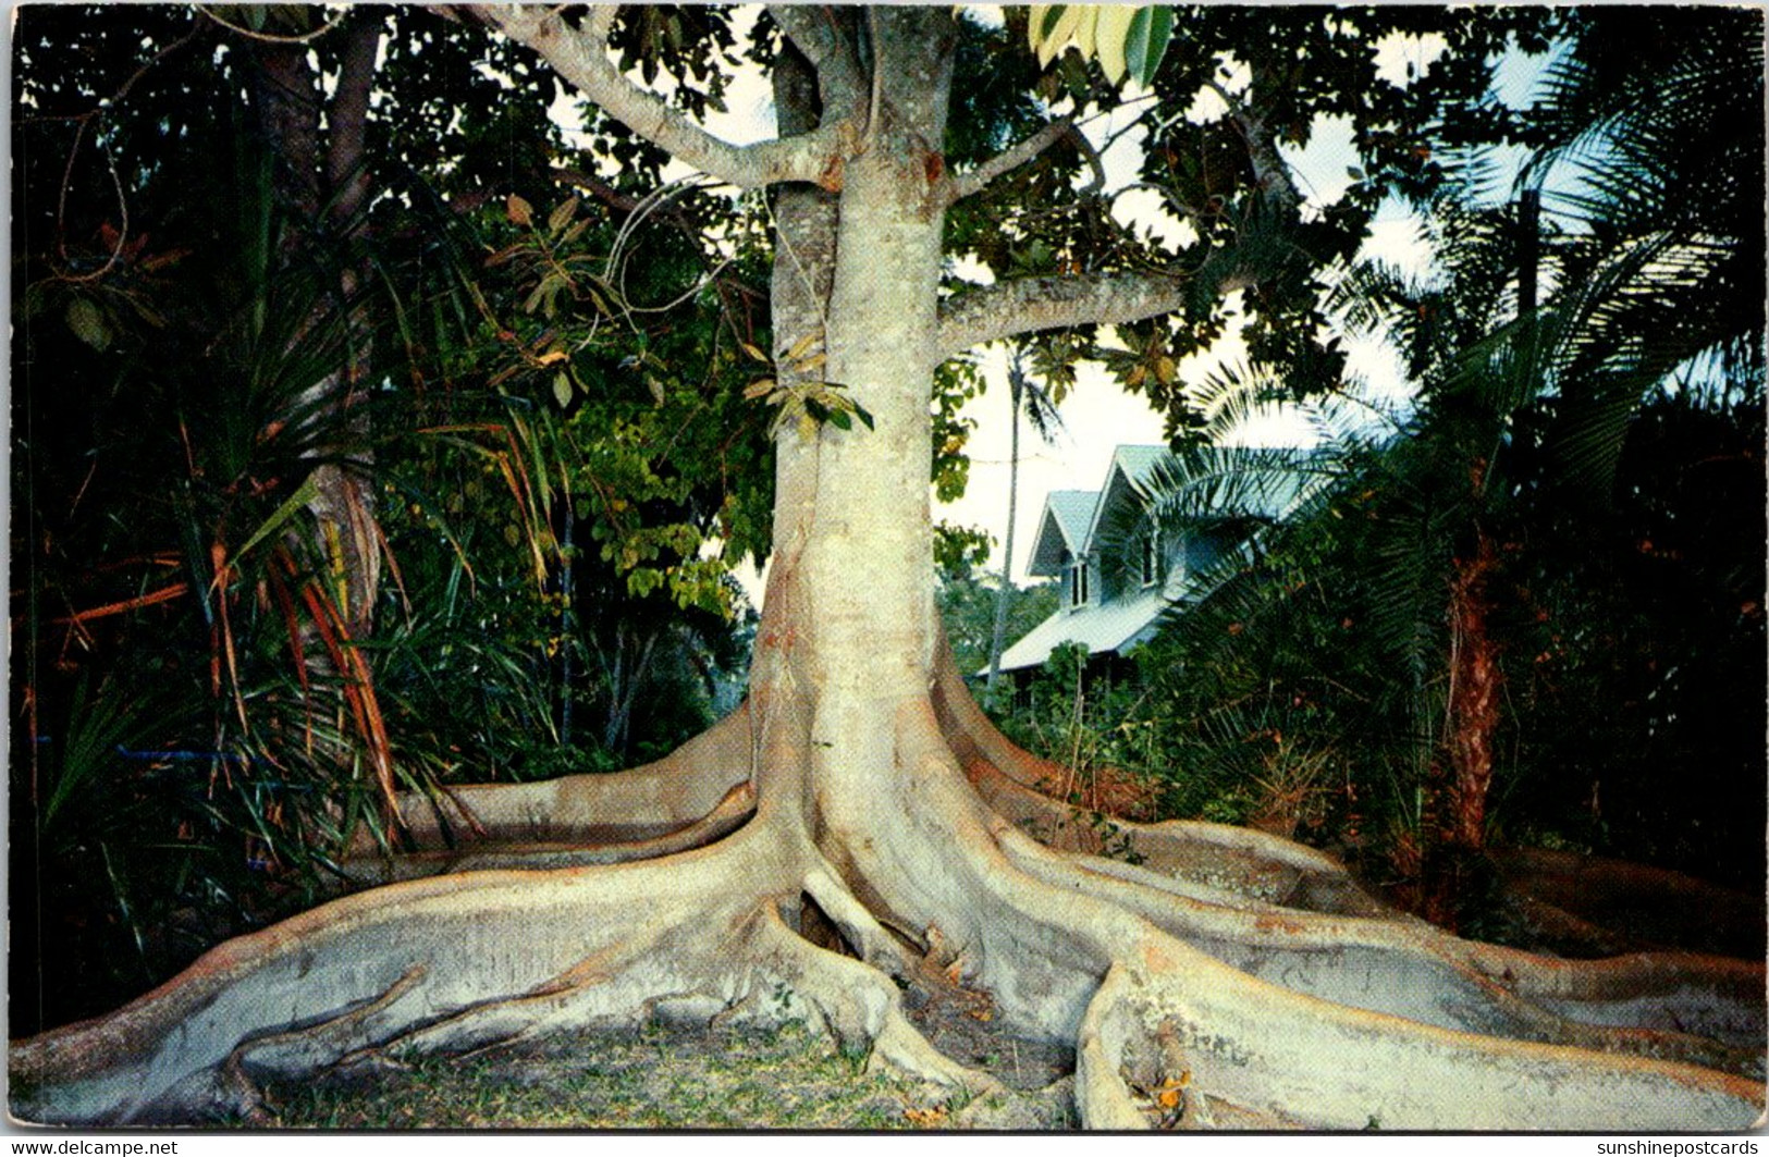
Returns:
[[[1136,1061],[1129,1044],[1113,1054],[1114,1038],[1169,1037],[1185,1072],[1166,1076],[1252,1115],[1330,1129],[1681,1130],[1742,1129],[1760,1111],[1758,1084],[1700,1069],[1445,1031],[1178,959],[1146,964],[1097,1001],[1100,1063]],[[1095,1104],[1122,1116],[1122,1097]],[[1083,1102],[1084,1120],[1095,1104]]]

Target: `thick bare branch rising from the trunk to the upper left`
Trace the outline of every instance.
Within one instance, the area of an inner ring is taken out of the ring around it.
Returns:
[[[823,184],[840,173],[846,147],[858,129],[844,120],[803,136],[734,145],[708,133],[681,110],[621,74],[609,58],[609,30],[617,5],[591,9],[580,28],[550,7],[476,4],[479,19],[538,51],[547,64],[594,101],[605,113],[665,149],[683,165],[745,189],[808,180]]]

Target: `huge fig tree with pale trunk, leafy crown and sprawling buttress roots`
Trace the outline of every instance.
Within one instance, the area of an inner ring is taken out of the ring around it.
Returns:
[[[603,115],[761,193],[743,203],[773,230],[777,389],[755,403],[798,409],[777,423],[748,699],[656,764],[469,787],[449,816],[409,801],[409,842],[440,849],[446,830],[446,854],[386,862],[396,883],[12,1042],[16,1115],[200,1120],[248,1109],[267,1076],[651,1017],[800,1019],[874,1063],[985,1092],[987,1074],[904,1014],[904,987],[941,977],[985,994],[1003,1033],[1072,1047],[1097,1129],[1758,1118],[1760,964],[1461,941],[1251,830],[1127,823],[1107,856],[1031,787],[1051,768],[976,709],[934,612],[941,363],[1114,326],[1160,395],[1160,366],[1219,333],[1235,297],[1261,356],[1332,375],[1313,272],[1355,248],[1383,182],[1431,179],[1428,117],[1491,127],[1429,110],[1477,90],[1514,28],[1419,9],[1176,11],[1166,58],[1127,97],[1106,80],[1123,65],[1102,73],[1086,46],[1040,64],[1024,11],[780,5],[752,37],[778,134],[734,145],[610,51],[630,53],[633,12],[449,16],[527,44]],[[1380,80],[1373,46],[1422,32],[1444,60],[1406,87]],[[1132,74],[1150,67],[1145,44]],[[1219,111],[1187,117],[1199,94]],[[1099,157],[1076,120],[1113,106],[1145,113],[1145,184],[1183,219],[1180,241],[1125,226],[1090,180]],[[1352,120],[1362,170],[1321,212],[1279,145],[1329,113]],[[996,278],[953,292],[959,253]]]

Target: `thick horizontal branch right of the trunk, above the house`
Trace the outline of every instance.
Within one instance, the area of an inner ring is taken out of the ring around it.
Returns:
[[[1245,288],[1251,278],[1228,278],[1219,292]],[[939,311],[939,357],[1040,329],[1118,326],[1185,308],[1191,283],[1160,272],[1015,278],[959,294]]]

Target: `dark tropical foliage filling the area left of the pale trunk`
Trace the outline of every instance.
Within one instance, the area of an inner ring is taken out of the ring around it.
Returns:
[[[359,39],[352,111],[318,78]],[[44,9],[18,65],[23,1030],[336,890],[394,791],[626,766],[729,709],[771,451],[757,241],[626,191],[658,157],[624,133],[593,138],[623,177],[561,172],[483,30]]]

